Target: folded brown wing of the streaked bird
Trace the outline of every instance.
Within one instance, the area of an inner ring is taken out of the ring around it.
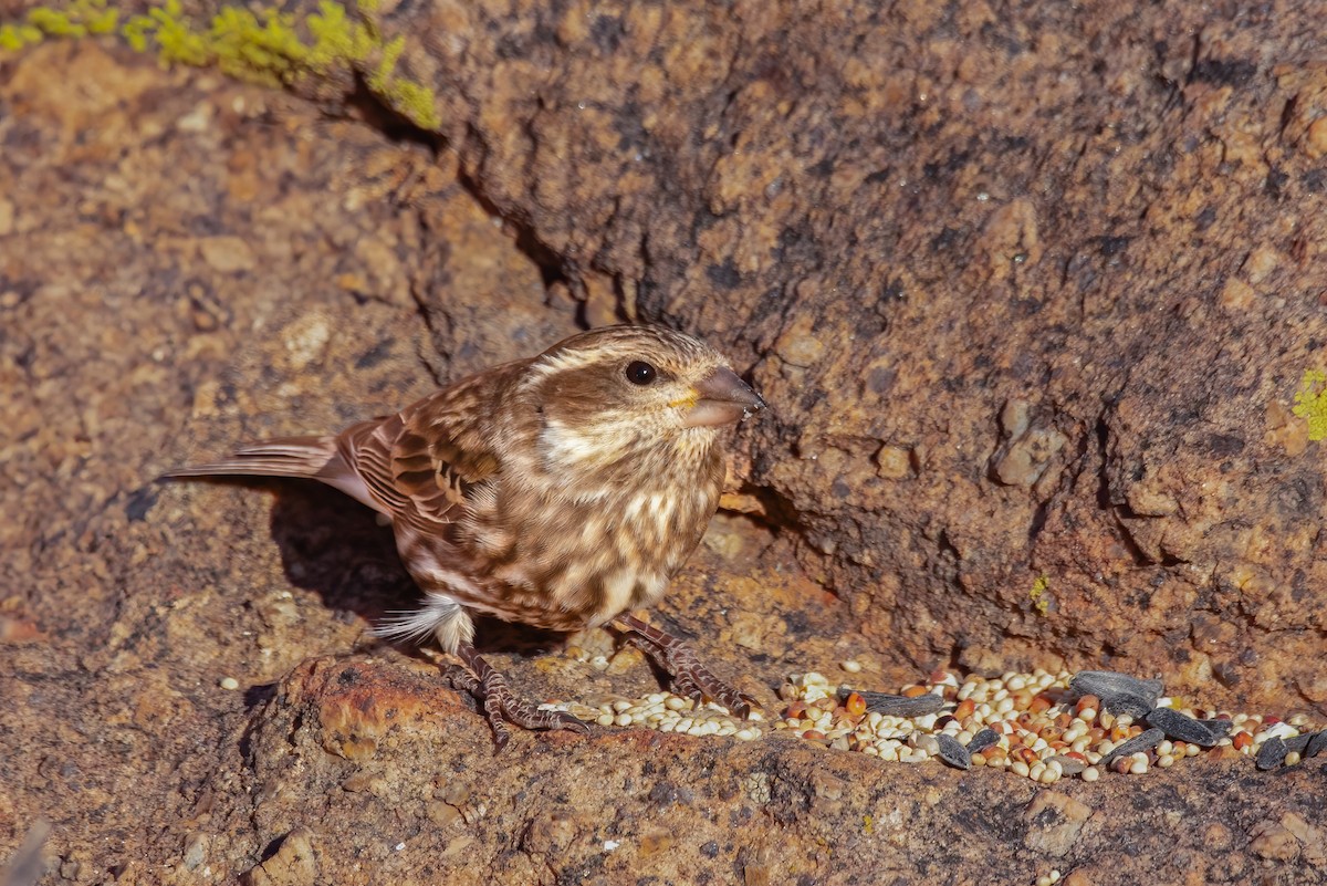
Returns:
[[[498,474],[499,403],[528,363],[495,366],[397,415],[346,428],[337,439],[341,458],[394,520],[425,532],[454,523],[471,491]]]

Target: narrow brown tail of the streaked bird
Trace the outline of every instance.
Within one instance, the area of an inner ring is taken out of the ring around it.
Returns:
[[[283,436],[251,443],[218,462],[167,471],[162,479],[204,476],[309,477],[386,513],[364,479],[341,458],[334,436]]]

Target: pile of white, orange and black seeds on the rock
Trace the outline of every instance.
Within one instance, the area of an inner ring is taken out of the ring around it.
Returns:
[[[851,662],[845,670],[853,671]],[[1251,757],[1259,769],[1294,765],[1327,749],[1327,732],[1306,715],[1209,711],[1162,696],[1161,680],[1109,671],[1009,672],[959,678],[933,672],[925,683],[886,695],[833,686],[816,672],[792,675],[779,691],[786,707],[772,724],[740,720],[714,704],[671,692],[641,699],[549,704],[601,727],[644,727],[740,740],[782,731],[837,751],[881,760],[936,757],[966,769],[1009,769],[1042,784],[1105,772],[1141,775],[1186,757]]]

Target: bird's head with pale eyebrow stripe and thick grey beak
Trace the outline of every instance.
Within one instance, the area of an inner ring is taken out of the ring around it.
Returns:
[[[553,345],[523,387],[549,468],[649,459],[671,474],[705,460],[718,432],[766,403],[705,342],[662,326],[606,326]]]

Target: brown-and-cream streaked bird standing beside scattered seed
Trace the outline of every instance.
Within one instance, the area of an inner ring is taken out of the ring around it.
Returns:
[[[723,431],[766,401],[701,340],[614,325],[462,378],[340,434],[244,446],[163,479],[308,477],[390,520],[418,607],[376,626],[462,664],[500,751],[507,724],[588,731],[516,694],[475,649],[475,615],[553,631],[612,626],[681,695],[739,716],[754,700],[691,645],[633,614],[660,601],[725,480]]]

